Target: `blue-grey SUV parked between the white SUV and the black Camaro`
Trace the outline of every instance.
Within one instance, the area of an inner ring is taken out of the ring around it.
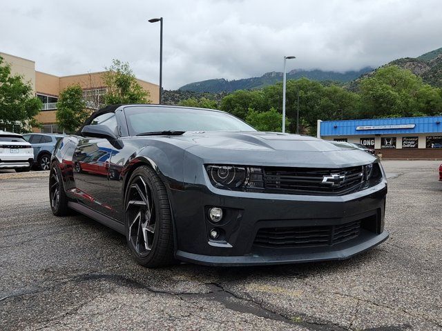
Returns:
[[[34,149],[35,168],[38,170],[49,170],[50,155],[54,151],[55,144],[59,139],[64,137],[63,134],[48,134],[48,133],[28,133],[23,134]]]

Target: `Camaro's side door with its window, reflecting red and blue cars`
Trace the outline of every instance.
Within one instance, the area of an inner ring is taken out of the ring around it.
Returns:
[[[106,125],[114,132],[114,113],[101,114],[90,125]],[[107,139],[83,137],[73,155],[75,195],[79,202],[97,212],[112,216],[109,202],[108,168],[113,146]]]

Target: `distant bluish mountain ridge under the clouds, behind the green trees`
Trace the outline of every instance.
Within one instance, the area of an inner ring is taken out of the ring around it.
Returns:
[[[373,68],[365,67],[358,71],[347,71],[344,73],[323,71],[323,70],[291,70],[287,72],[287,79],[299,79],[306,77],[313,81],[337,81],[340,83],[346,83],[352,81],[365,74],[371,72]],[[189,83],[178,90],[180,91],[192,91],[192,92],[233,92],[235,90],[251,90],[253,88],[263,88],[265,86],[273,85],[274,83],[282,81],[282,72],[267,72],[261,77],[252,77],[245,79],[238,79],[228,81],[227,79],[208,79],[206,81],[197,81],[195,83]]]

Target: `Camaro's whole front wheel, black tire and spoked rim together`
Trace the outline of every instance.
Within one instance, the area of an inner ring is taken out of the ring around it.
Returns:
[[[143,165],[133,172],[125,208],[126,239],[135,260],[150,268],[173,263],[169,197],[152,168]]]

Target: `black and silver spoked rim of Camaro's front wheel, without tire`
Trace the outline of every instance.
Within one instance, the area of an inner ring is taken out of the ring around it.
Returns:
[[[128,241],[140,257],[151,252],[155,239],[155,204],[146,181],[137,176],[128,188],[126,199]]]

